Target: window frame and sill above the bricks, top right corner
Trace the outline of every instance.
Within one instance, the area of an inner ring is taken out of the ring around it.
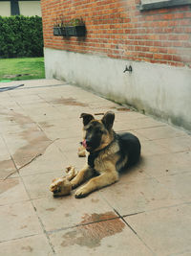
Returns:
[[[191,5],[191,0],[140,0],[140,11]]]

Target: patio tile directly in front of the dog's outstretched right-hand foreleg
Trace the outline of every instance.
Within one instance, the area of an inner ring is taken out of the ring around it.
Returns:
[[[135,177],[134,180],[133,177],[128,179],[128,175],[121,176],[116,184],[101,189],[99,193],[121,216],[181,202],[181,198],[177,198],[173,191],[168,190],[158,180],[148,177]]]

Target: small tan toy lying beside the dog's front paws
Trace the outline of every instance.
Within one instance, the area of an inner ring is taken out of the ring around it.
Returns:
[[[71,194],[72,184],[71,180],[77,175],[74,166],[66,168],[67,175],[56,177],[50,185],[50,191],[53,192],[53,197],[67,196]]]

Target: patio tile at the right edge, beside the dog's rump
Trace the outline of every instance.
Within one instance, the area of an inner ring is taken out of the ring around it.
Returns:
[[[156,154],[142,157],[141,169],[150,176],[158,177],[191,172],[191,152]]]

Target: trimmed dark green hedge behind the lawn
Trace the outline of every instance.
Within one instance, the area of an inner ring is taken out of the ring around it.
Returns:
[[[42,18],[0,16],[0,58],[42,57]]]

